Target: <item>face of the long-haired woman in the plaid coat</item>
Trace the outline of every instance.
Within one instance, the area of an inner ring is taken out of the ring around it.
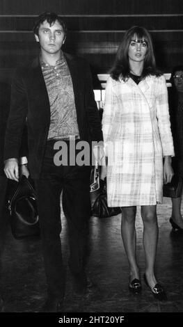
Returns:
[[[148,47],[144,39],[138,40],[137,36],[134,35],[131,42],[129,43],[128,57],[130,61],[136,61],[140,63],[144,61]]]

